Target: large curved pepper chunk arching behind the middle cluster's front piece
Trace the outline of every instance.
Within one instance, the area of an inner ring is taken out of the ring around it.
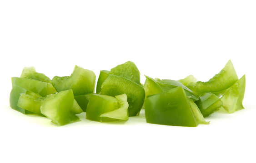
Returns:
[[[101,95],[127,95],[129,116],[135,116],[141,110],[145,98],[144,88],[124,77],[109,75],[101,85]]]

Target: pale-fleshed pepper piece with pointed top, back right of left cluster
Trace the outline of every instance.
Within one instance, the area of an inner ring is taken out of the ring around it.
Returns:
[[[84,95],[94,93],[95,78],[94,72],[75,66],[71,76],[56,76],[52,79],[52,85],[58,92],[72,89],[75,96]]]

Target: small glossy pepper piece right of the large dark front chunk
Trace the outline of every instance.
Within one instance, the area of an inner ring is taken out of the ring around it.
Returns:
[[[204,117],[209,116],[215,111],[219,110],[222,106],[221,99],[213,93],[203,93],[200,96],[200,100],[196,101],[196,105],[199,107]]]

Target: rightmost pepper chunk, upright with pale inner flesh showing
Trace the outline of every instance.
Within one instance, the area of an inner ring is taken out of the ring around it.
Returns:
[[[242,105],[246,87],[246,76],[241,77],[233,86],[229,87],[222,94],[223,107],[229,113],[244,109]]]

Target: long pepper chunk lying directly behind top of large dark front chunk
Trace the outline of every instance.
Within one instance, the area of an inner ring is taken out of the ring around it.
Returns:
[[[175,80],[161,80],[158,78],[152,79],[151,77],[146,76],[144,89],[146,96],[150,96],[160,92],[168,91],[178,86],[181,86],[185,90],[186,95],[192,98],[194,101],[197,101],[199,99],[193,91],[191,91],[189,88],[181,84],[181,82]]]

